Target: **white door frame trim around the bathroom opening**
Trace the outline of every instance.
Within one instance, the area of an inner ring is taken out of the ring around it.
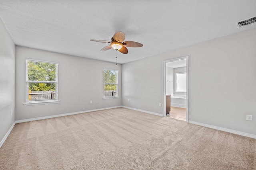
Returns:
[[[185,57],[179,57],[175,59],[165,60],[163,61],[163,114],[162,116],[166,116],[166,63],[172,62],[172,61],[178,61],[178,60],[184,60],[186,59],[186,73],[187,73],[187,122],[189,120],[189,56]]]

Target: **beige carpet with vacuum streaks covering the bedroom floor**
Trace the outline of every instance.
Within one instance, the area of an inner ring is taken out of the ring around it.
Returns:
[[[121,107],[16,124],[0,169],[255,170],[256,139]]]

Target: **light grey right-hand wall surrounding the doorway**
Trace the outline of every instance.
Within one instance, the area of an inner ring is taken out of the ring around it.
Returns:
[[[123,64],[122,104],[162,114],[162,61],[184,56],[189,120],[256,135],[256,28]]]

